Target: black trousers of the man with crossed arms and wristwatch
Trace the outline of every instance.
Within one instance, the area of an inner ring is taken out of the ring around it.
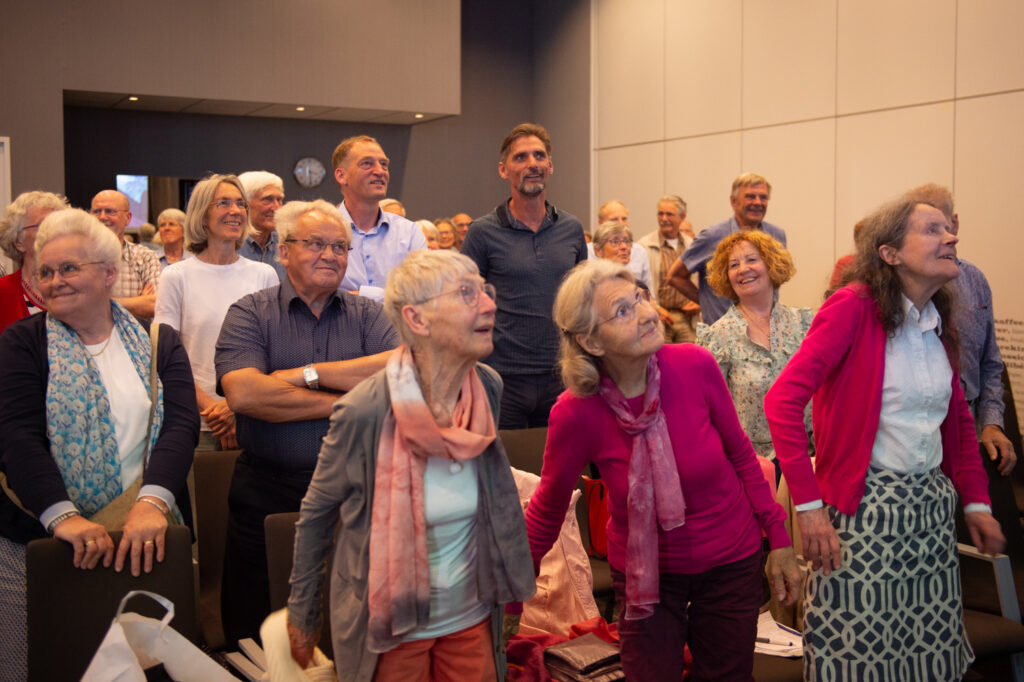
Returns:
[[[230,650],[246,637],[259,641],[259,628],[270,613],[263,519],[267,514],[299,511],[311,477],[312,471],[267,468],[245,454],[234,464],[220,591],[220,616]]]

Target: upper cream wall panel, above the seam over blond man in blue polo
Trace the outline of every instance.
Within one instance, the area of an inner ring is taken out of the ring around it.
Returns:
[[[836,0],[743,3],[743,127],[836,114]]]

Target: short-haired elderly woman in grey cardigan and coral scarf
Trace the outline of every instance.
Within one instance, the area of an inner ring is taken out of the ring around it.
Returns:
[[[384,305],[404,345],[334,408],[296,525],[292,653],[319,639],[335,526],[338,677],[495,680],[503,604],[535,591],[515,481],[495,421],[494,289],[469,258],[417,251]]]

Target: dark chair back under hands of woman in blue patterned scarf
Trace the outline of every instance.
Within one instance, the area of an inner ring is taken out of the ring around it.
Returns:
[[[121,532],[111,534],[114,545]],[[165,556],[153,571],[133,578],[101,565],[82,570],[72,565],[74,550],[55,538],[35,540],[26,548],[28,571],[29,680],[81,679],[114,620],[121,599],[131,590],[148,590],[174,602],[171,627],[200,643],[193,580],[191,534],[183,525],[167,528]],[[161,619],[152,599],[132,599],[128,610]]]

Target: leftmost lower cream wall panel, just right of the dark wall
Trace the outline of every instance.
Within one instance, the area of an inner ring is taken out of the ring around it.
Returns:
[[[598,152],[598,196],[593,208],[594,227],[597,209],[606,201],[616,199],[630,210],[633,239],[640,239],[655,226],[654,208],[665,194],[665,143],[636,144]]]

